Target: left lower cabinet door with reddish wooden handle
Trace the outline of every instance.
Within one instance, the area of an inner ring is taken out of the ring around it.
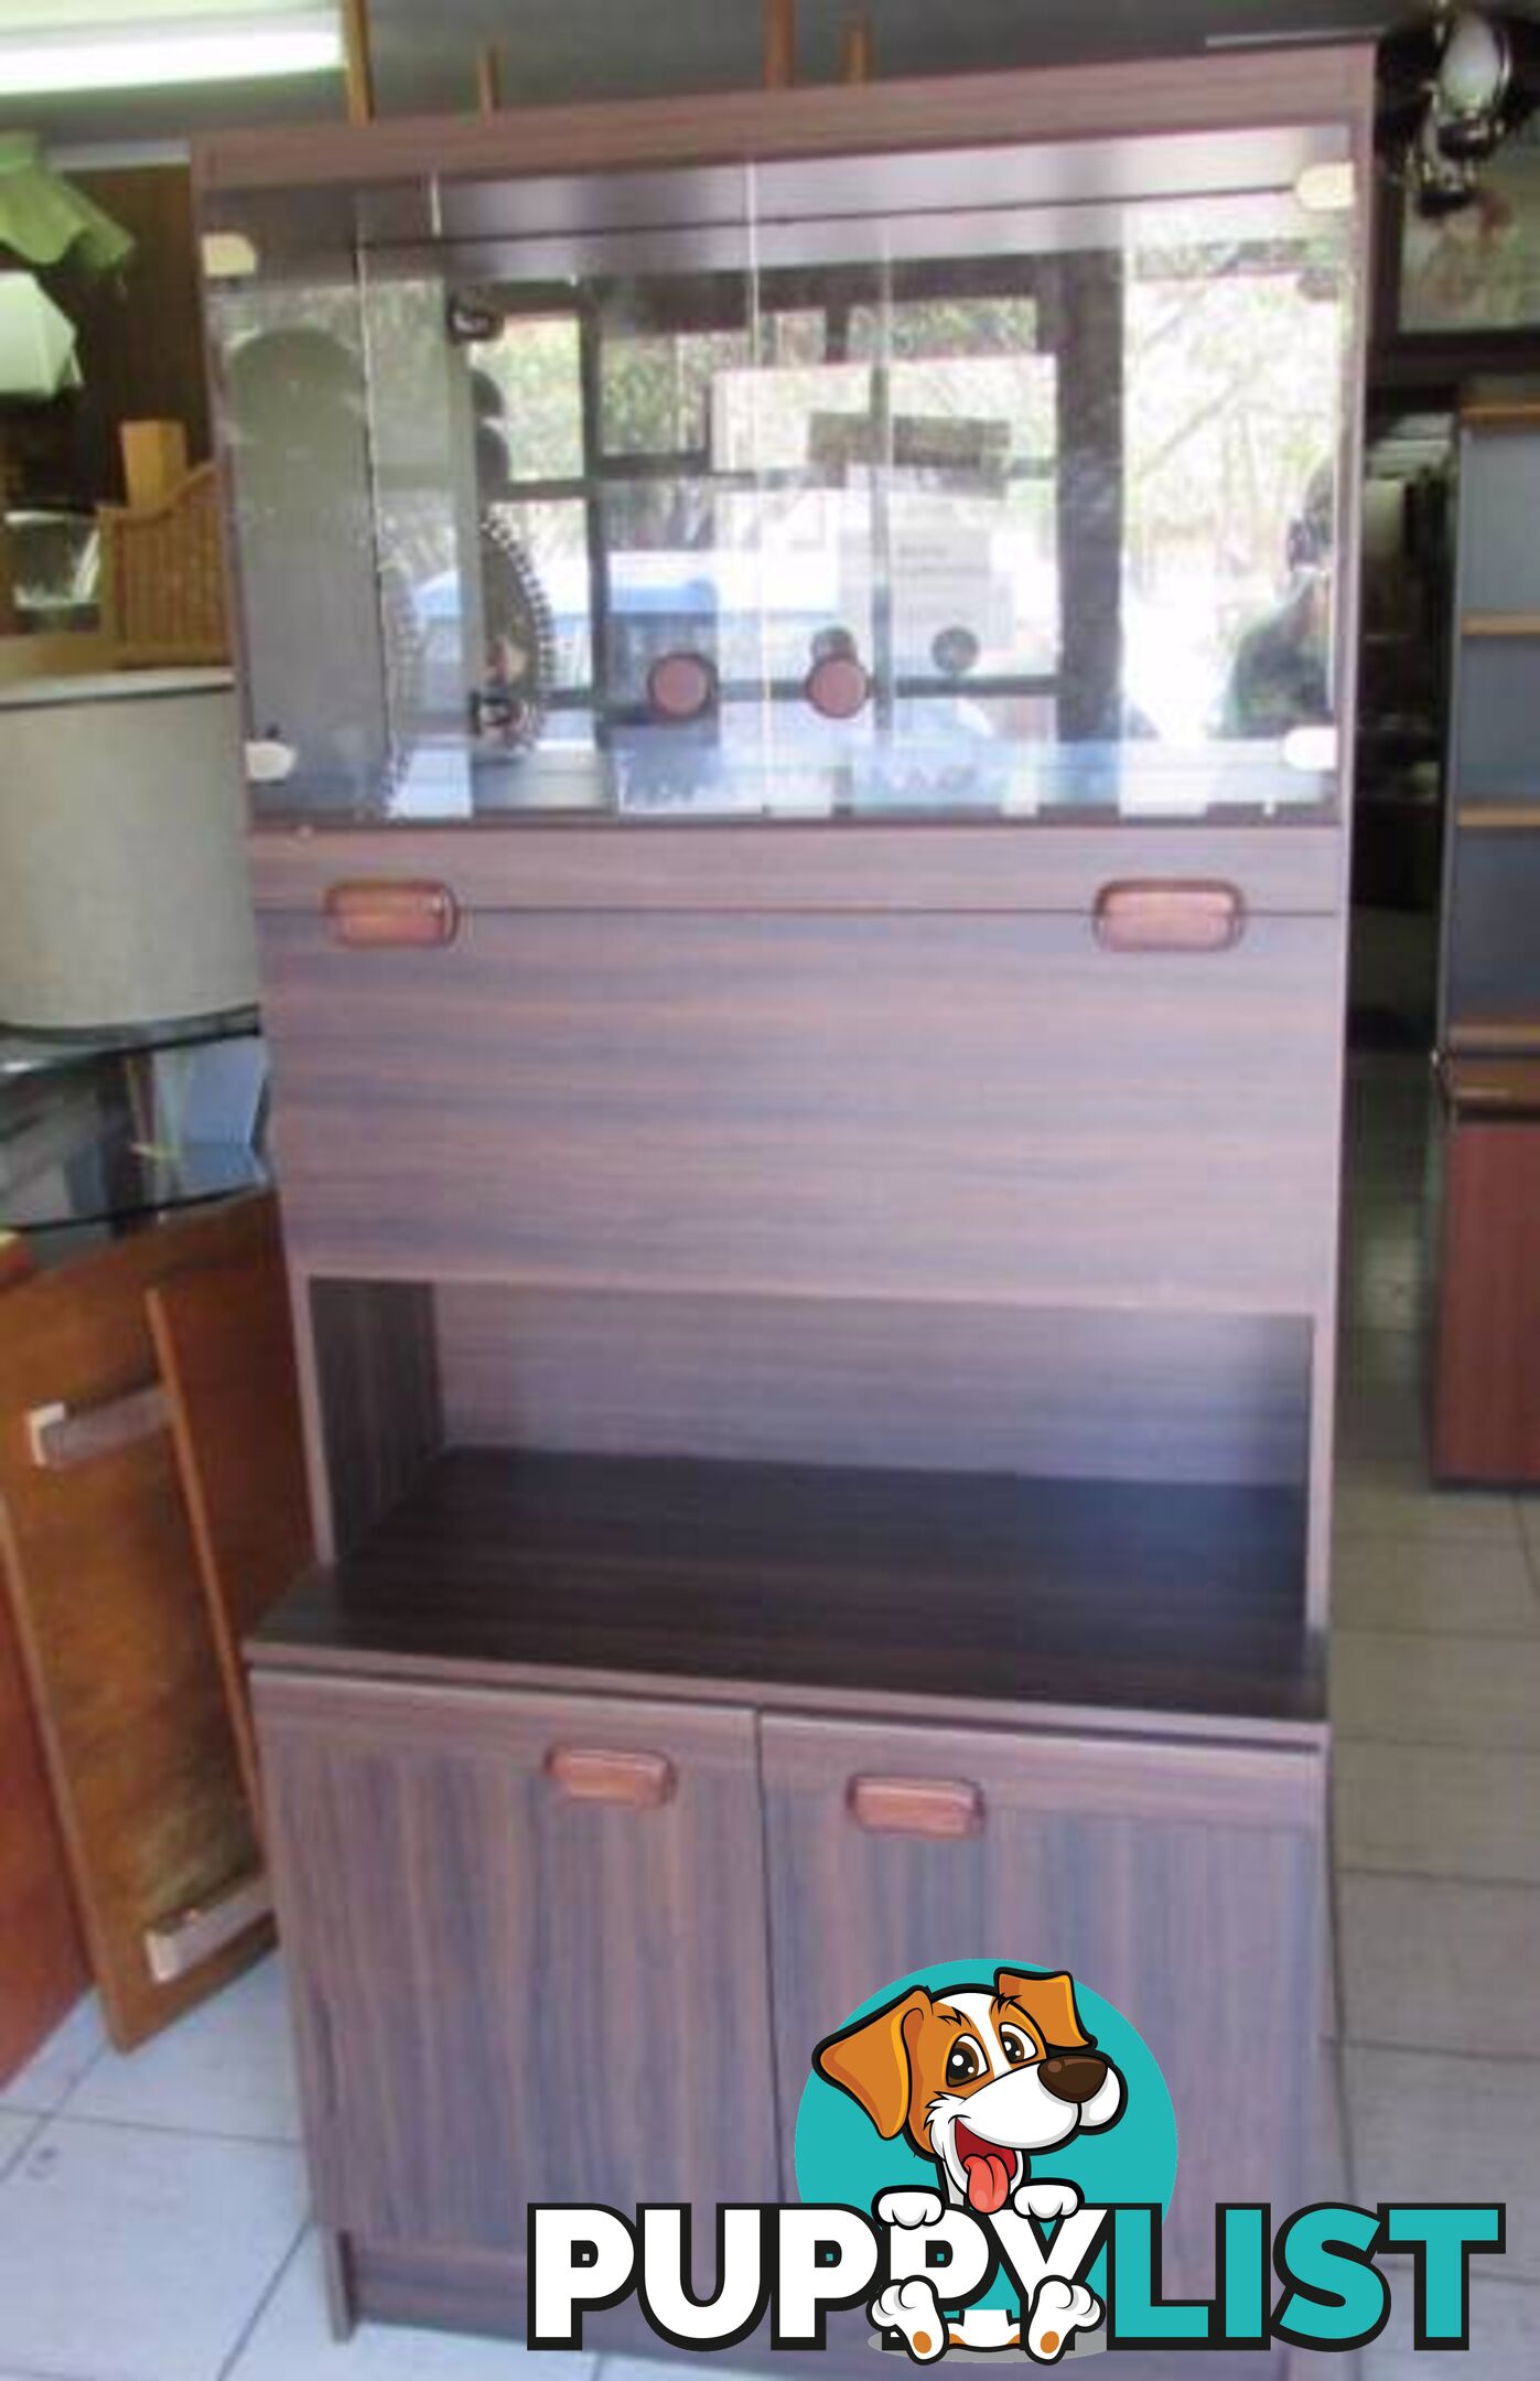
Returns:
[[[776,2195],[747,1712],[255,1700],[324,2226],[521,2255],[531,2200]]]

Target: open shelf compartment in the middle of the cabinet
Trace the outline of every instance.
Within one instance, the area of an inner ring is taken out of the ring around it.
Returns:
[[[309,1286],[267,1662],[1319,1721],[1311,1326]]]

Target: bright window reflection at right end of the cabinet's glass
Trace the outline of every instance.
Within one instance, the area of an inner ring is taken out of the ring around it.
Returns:
[[[1328,719],[1333,255],[1162,250],[1126,288],[1126,690],[1171,740]]]

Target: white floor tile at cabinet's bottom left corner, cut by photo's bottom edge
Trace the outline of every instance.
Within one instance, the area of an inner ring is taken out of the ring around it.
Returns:
[[[590,2381],[597,2357],[531,2355],[517,2341],[359,2324],[338,2348],[314,2233],[262,2310],[229,2381]],[[657,2381],[659,2367],[650,2367]],[[695,2374],[700,2381],[700,2374]]]

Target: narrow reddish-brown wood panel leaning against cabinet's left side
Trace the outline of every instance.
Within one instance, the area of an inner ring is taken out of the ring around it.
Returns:
[[[174,1274],[148,1302],[207,1621],[259,1821],[240,1643],[314,1552],[281,1250]]]

